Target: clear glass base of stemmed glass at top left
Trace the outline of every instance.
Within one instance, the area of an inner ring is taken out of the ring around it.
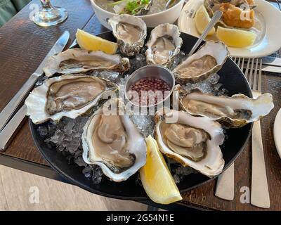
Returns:
[[[33,16],[33,21],[41,27],[49,27],[62,23],[67,18],[65,8],[54,7],[50,0],[40,0],[42,4],[41,11]]]

